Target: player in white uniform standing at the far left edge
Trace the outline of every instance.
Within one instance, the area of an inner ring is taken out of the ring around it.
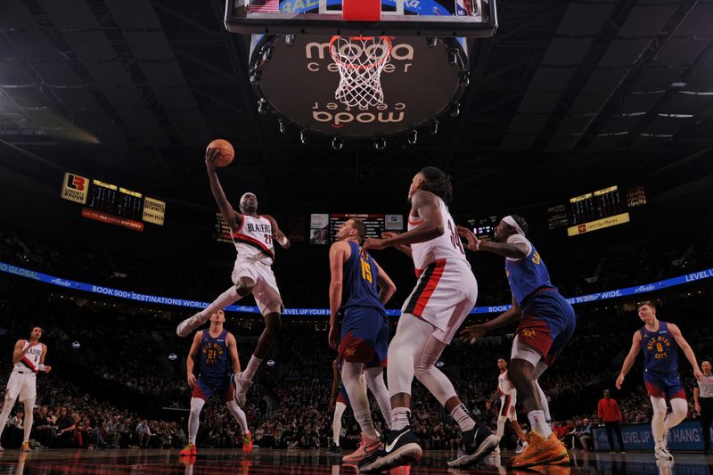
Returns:
[[[32,430],[33,409],[37,397],[37,373],[49,373],[51,366],[45,365],[47,356],[47,345],[40,343],[42,328],[33,326],[29,333],[29,340],[17,340],[15,348],[12,350],[12,373],[7,380],[7,390],[3,412],[0,413],[0,437],[3,435],[7,418],[12,412],[12,406],[16,400],[25,407],[25,419],[23,423],[22,452],[29,452],[29,432]],[[0,450],[3,447],[0,446]]]

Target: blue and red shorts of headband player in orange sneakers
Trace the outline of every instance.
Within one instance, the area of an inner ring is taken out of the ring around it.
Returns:
[[[544,363],[551,366],[574,334],[574,308],[558,291],[539,291],[527,300],[522,315],[515,332],[518,341],[537,349]]]

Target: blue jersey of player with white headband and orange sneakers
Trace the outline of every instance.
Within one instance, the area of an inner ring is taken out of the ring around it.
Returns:
[[[554,286],[550,283],[550,273],[547,271],[545,262],[540,258],[539,253],[531,242],[524,236],[520,236],[520,234],[510,236],[507,242],[511,244],[523,242],[528,244],[529,247],[527,258],[518,260],[505,259],[505,274],[507,274],[507,281],[510,283],[512,296],[518,305],[522,307],[525,300],[538,289],[544,287],[554,289]]]

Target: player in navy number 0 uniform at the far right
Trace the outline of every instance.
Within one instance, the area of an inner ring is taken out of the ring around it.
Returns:
[[[661,322],[656,318],[656,307],[652,302],[639,306],[639,318],[643,327],[634,333],[631,349],[617,378],[617,389],[621,389],[624,377],[634,365],[639,350],[643,350],[643,384],[652,399],[652,433],[655,442],[656,458],[673,461],[674,456],[668,451],[668,430],[676,427],[688,413],[684,386],[678,375],[678,348],[684,351],[688,362],[693,366],[693,376],[701,381],[703,374],[698,369],[693,349],[673,323]],[[671,405],[667,415],[666,400]]]

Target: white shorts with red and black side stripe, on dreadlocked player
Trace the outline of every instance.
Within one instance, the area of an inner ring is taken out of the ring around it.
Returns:
[[[432,324],[433,337],[448,344],[477,298],[478,283],[470,264],[464,259],[439,259],[423,269],[401,313]]]

